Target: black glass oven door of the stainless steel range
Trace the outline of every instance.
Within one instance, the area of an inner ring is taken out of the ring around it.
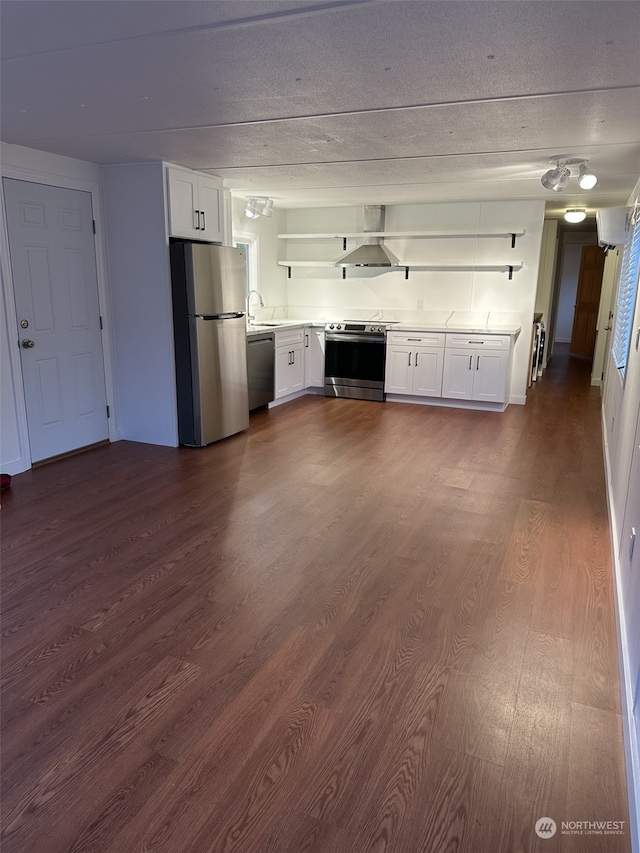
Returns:
[[[385,338],[382,335],[328,333],[325,343],[325,393],[340,388],[384,388]],[[345,392],[344,396],[353,396]]]

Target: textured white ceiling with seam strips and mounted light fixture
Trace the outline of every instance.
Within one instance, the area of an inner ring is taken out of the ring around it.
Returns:
[[[640,3],[3,0],[2,139],[163,159],[281,207],[624,204]],[[554,155],[594,190],[545,190]]]

